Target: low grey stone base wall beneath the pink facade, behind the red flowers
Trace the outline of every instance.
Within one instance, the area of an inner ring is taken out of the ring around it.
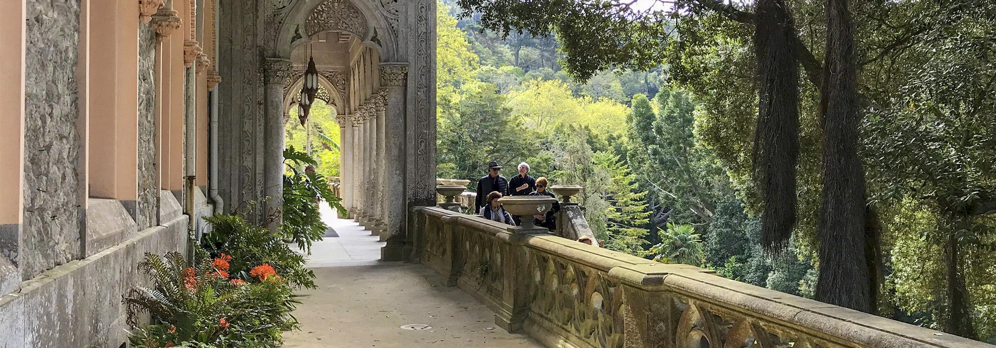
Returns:
[[[0,295],[0,347],[120,347],[127,339],[122,296],[147,278],[146,252],[185,255],[186,216],[139,232],[90,258],[71,261]]]

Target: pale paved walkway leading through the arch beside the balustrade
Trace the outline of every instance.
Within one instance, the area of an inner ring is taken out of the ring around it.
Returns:
[[[299,292],[301,330],[286,333],[284,347],[542,347],[497,327],[485,305],[429,268],[377,261],[383,244],[353,221],[326,223],[340,237],[312,248],[319,288]],[[408,324],[430,327],[401,328]]]

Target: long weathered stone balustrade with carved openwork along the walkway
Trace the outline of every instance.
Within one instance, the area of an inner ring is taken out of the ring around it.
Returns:
[[[549,347],[993,347],[438,207],[414,258]]]

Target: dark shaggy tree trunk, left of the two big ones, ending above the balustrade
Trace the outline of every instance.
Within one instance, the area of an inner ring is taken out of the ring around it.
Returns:
[[[759,80],[754,139],[755,181],[764,195],[761,244],[780,253],[796,223],[799,159],[799,64],[795,25],[784,0],[759,0],[754,45]]]

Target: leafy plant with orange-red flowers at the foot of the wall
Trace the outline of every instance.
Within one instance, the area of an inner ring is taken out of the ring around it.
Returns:
[[[222,255],[214,261],[197,251],[190,265],[176,252],[145,254],[138,267],[152,280],[124,296],[128,323],[147,313],[154,324],[135,328],[134,347],[276,347],[283,331],[298,327],[290,313],[297,303],[283,277],[272,271],[245,281],[232,278]],[[272,269],[269,265],[259,268]]]

